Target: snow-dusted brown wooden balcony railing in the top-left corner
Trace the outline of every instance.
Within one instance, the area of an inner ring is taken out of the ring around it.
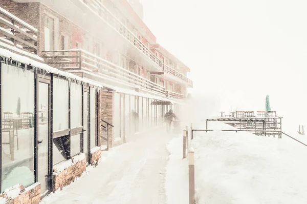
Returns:
[[[0,7],[0,42],[37,53],[37,29]]]

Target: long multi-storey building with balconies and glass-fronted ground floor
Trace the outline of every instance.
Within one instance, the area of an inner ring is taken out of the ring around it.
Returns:
[[[0,197],[37,203],[101,150],[180,115],[190,69],[157,43],[139,1],[1,3]]]

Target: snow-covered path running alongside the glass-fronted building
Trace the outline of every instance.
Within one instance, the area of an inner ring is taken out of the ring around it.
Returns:
[[[167,143],[164,131],[135,136],[110,150],[97,168],[41,203],[166,203]]]

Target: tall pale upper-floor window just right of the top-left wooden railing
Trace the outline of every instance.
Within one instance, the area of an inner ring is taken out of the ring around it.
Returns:
[[[54,19],[45,15],[44,46],[45,51],[54,50]]]

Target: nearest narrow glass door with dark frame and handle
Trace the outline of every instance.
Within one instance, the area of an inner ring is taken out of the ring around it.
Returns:
[[[38,85],[38,182],[41,183],[41,194],[49,191],[49,133],[50,133],[50,120],[49,120],[49,94],[50,85],[47,83],[39,82]]]

